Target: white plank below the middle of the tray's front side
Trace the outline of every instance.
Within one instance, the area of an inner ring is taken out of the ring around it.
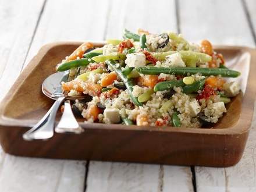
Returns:
[[[90,162],[88,192],[158,191],[159,165]]]

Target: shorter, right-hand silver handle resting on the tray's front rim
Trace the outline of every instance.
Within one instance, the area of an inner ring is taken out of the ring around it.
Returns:
[[[65,108],[61,120],[55,127],[55,131],[57,133],[81,133],[83,129],[80,127],[79,123],[73,115],[70,101],[66,100],[64,106]]]

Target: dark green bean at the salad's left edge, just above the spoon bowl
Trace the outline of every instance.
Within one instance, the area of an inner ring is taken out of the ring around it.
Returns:
[[[80,66],[87,66],[89,63],[93,63],[94,61],[91,59],[83,58],[83,59],[76,59],[73,61],[69,61],[66,63],[62,63],[61,65],[58,66],[57,71],[58,72],[63,72],[65,70],[69,70],[74,67],[80,67]]]

